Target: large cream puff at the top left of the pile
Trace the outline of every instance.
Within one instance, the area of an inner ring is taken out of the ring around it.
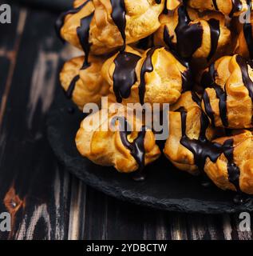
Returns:
[[[155,32],[164,0],[83,0],[74,6],[58,19],[61,37],[86,55],[108,54]]]

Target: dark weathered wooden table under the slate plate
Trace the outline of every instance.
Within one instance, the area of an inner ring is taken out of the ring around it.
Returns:
[[[4,2],[4,1],[0,1]],[[1,239],[251,239],[239,216],[177,214],[119,202],[61,166],[45,134],[62,63],[73,50],[54,33],[57,14],[12,5],[0,24]]]

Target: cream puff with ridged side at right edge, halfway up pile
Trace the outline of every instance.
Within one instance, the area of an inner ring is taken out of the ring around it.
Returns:
[[[202,108],[213,126],[252,127],[253,63],[235,54],[213,63],[202,75]]]

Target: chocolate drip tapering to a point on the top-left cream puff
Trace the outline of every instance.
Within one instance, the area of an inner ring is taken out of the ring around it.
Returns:
[[[125,27],[126,27],[126,10],[125,10],[125,0],[111,0],[111,5],[113,8],[112,18],[113,22],[117,26],[118,30],[121,32],[121,37],[123,39],[123,49],[125,50]]]

